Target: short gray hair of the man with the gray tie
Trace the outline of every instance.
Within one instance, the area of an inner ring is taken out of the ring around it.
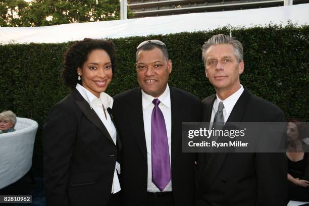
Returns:
[[[243,60],[243,48],[242,44],[232,36],[224,35],[224,34],[217,34],[212,36],[212,38],[205,41],[202,46],[202,59],[204,65],[206,65],[206,53],[210,46],[218,45],[218,44],[231,44],[234,47],[235,55],[238,59],[238,63]]]

